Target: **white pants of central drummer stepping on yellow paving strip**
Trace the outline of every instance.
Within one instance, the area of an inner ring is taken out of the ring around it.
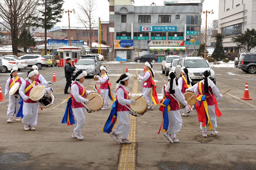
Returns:
[[[120,124],[114,132],[121,135],[121,139],[127,139],[130,132],[130,113],[129,111],[118,111],[117,117]]]

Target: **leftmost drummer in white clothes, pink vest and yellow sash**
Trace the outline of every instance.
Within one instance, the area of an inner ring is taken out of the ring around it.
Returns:
[[[7,94],[9,93],[11,87],[13,87],[13,85],[15,83],[21,84],[23,81],[24,81],[23,78],[18,77],[18,68],[13,67],[11,69],[11,75],[8,78],[8,80],[6,81],[5,97],[7,97]],[[12,117],[14,116],[14,112],[17,115],[17,112],[20,109],[19,101],[20,101],[20,95],[18,92],[17,93],[15,92],[14,95],[9,96],[9,105],[8,105],[8,110],[7,110],[7,117],[8,117],[7,123],[12,122]],[[16,117],[16,121],[20,121],[20,117]]]

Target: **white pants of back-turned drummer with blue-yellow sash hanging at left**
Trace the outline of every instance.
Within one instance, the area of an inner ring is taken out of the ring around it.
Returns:
[[[168,133],[171,134],[171,137],[174,138],[175,134],[180,132],[180,128],[182,126],[182,119],[180,116],[180,111],[168,111]]]

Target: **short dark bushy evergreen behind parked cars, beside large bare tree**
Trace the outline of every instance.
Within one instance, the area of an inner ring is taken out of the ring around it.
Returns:
[[[27,49],[30,46],[35,46],[35,39],[32,37],[30,32],[27,29],[22,29],[20,33],[20,37],[18,38],[17,44],[19,46],[22,46],[24,49],[24,52],[27,52]]]

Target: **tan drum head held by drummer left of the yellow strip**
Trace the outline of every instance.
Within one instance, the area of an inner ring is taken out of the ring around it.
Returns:
[[[95,97],[94,99],[92,99],[93,97]],[[85,105],[91,110],[91,111],[99,111],[102,107],[103,107],[103,104],[104,104],[104,100],[102,98],[102,96],[96,92],[91,92],[89,94],[87,94],[85,96],[85,99],[87,100],[90,100],[90,103],[86,104]]]

